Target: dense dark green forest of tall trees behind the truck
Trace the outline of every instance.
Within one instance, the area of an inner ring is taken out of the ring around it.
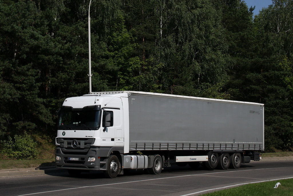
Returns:
[[[0,1],[2,148],[30,135],[54,141],[55,111],[88,94],[88,5]],[[254,18],[253,9],[241,0],[93,0],[93,92],[264,103],[266,151],[292,151],[293,0]]]

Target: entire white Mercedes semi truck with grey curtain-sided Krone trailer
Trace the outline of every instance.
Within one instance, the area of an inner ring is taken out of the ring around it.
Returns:
[[[159,174],[172,164],[238,169],[260,160],[264,105],[136,91],[67,98],[59,110],[56,167]]]

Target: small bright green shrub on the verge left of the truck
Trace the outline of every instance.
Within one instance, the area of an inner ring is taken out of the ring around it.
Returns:
[[[25,133],[24,135],[15,135],[14,140],[9,136],[8,140],[3,141],[3,152],[9,158],[36,159],[40,150],[37,149],[38,143]]]

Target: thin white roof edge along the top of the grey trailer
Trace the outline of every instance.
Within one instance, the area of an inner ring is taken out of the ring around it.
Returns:
[[[165,97],[173,97],[173,98],[185,98],[185,99],[197,99],[203,101],[213,101],[213,102],[229,102],[229,103],[239,103],[239,104],[248,104],[248,105],[260,105],[263,106],[262,103],[253,103],[253,102],[245,102],[245,101],[234,101],[234,100],[224,100],[224,99],[212,99],[212,98],[202,98],[202,97],[192,97],[192,96],[182,96],[182,95],[171,95],[171,94],[163,94],[163,93],[150,93],[150,92],[141,92],[141,91],[105,91],[105,92],[92,92],[91,94],[86,94],[83,96],[100,96],[100,95],[117,95],[121,93],[128,93],[129,96],[131,94],[142,94],[149,96],[165,96]]]

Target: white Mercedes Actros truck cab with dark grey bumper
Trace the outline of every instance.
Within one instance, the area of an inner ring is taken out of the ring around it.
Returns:
[[[71,174],[107,170],[110,154],[121,159],[120,154],[125,153],[121,95],[67,98],[58,116],[57,168]]]

